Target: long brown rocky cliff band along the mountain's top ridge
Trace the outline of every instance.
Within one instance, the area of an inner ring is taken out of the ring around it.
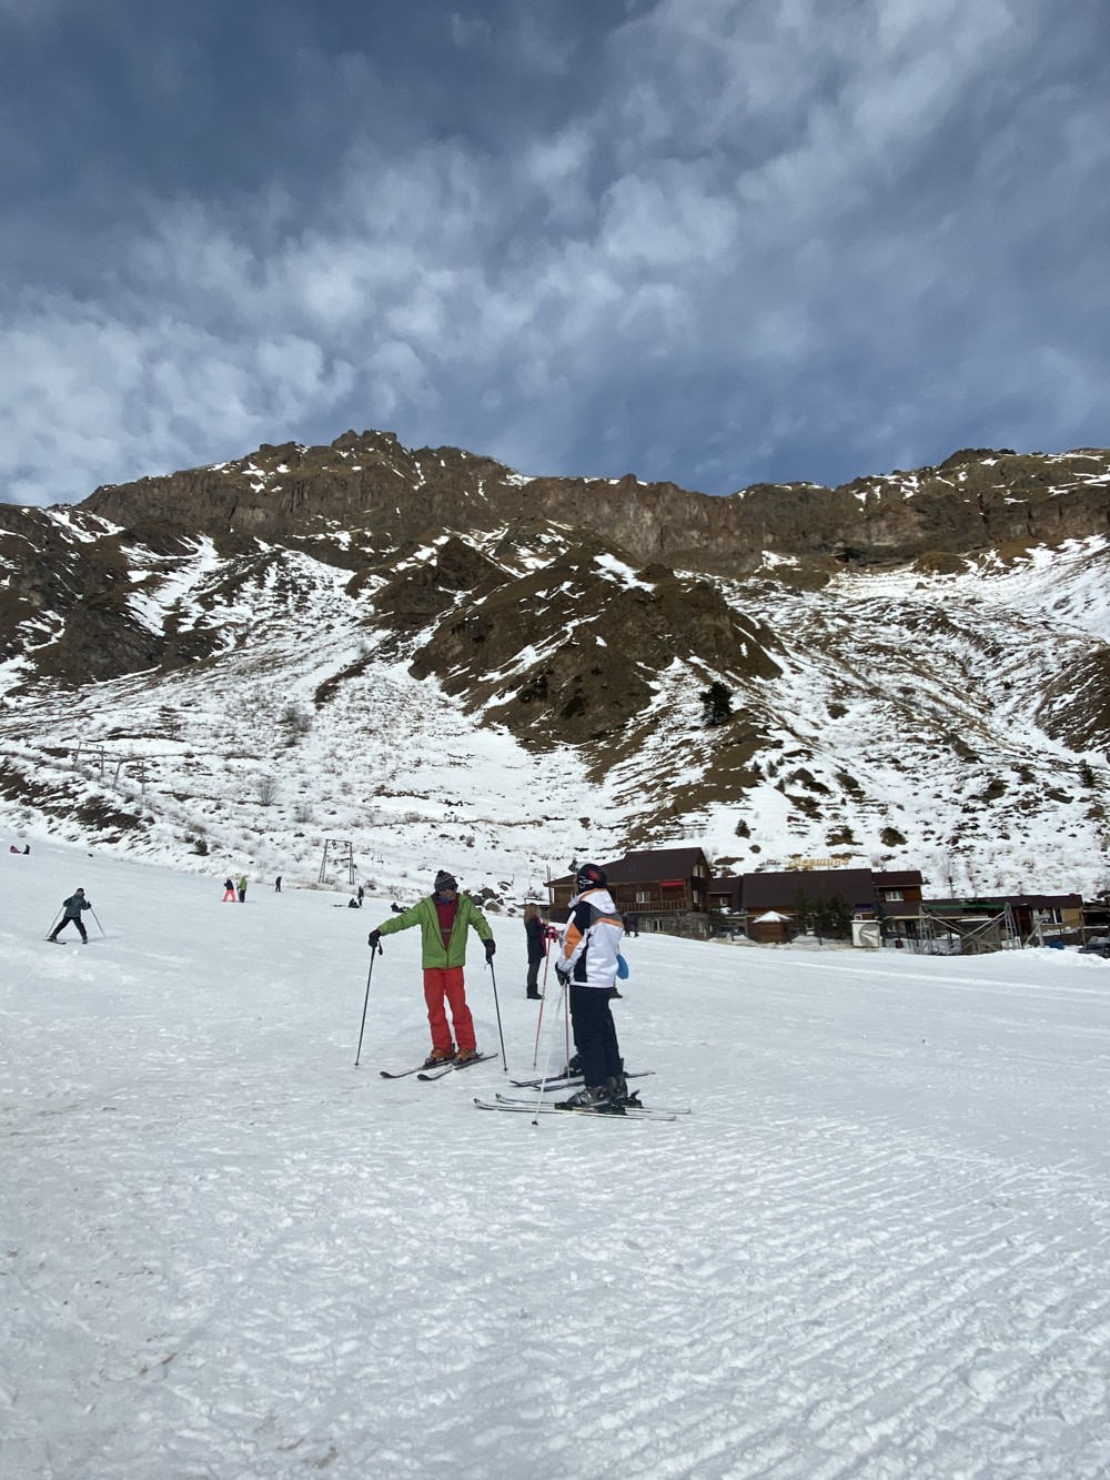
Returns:
[[[330,447],[263,444],[237,463],[98,488],[81,508],[147,542],[204,533],[235,554],[244,536],[311,540],[314,554],[351,567],[360,552],[371,559],[437,528],[527,517],[588,531],[636,564],[744,574],[765,551],[866,567],[1110,533],[1106,472],[1106,451],[966,451],[839,488],[756,484],[715,499],[632,475],[521,480],[453,447],[410,453],[389,432],[346,432]],[[329,545],[334,531],[349,531],[349,545]]]

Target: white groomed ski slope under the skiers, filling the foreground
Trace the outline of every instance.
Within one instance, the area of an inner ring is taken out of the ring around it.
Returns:
[[[77,869],[108,938],[58,950],[27,922]],[[471,1107],[499,1060],[379,1079],[423,1052],[416,932],[352,1067],[388,906],[219,878],[7,860],[3,1480],[1110,1468],[1110,966],[641,937],[622,1042],[694,1114],[534,1126]]]

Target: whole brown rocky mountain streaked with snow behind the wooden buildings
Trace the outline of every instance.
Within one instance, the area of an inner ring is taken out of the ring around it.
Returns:
[[[675,841],[1092,889],[1109,540],[1094,450],[710,499],[349,432],[0,505],[0,817],[398,897]]]

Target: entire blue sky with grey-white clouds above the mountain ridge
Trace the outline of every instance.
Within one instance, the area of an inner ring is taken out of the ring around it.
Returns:
[[[1106,0],[0,0],[0,499],[1110,443]]]

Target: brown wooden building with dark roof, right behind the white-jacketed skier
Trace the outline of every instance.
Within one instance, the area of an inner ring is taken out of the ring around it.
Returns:
[[[632,916],[638,929],[702,938],[710,934],[710,869],[700,848],[645,848],[601,867],[617,909],[626,921]],[[548,889],[552,918],[565,918],[577,892],[574,875],[551,879]]]

